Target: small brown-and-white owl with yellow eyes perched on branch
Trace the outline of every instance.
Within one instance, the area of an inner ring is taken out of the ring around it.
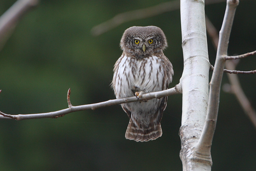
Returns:
[[[136,96],[168,89],[172,82],[172,64],[163,50],[167,47],[164,32],[156,26],[130,27],[120,43],[123,54],[114,66],[112,88],[116,98]],[[122,104],[130,118],[125,138],[137,142],[162,136],[160,121],[167,97]]]

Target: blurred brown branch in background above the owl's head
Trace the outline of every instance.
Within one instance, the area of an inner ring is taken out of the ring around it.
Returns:
[[[205,1],[205,4],[215,4],[220,2],[225,2],[226,0],[211,0]],[[112,19],[105,21],[97,26],[92,27],[92,35],[101,35],[112,28],[115,28],[122,23],[132,21],[135,19],[144,19],[152,16],[162,14],[164,12],[174,11],[180,9],[180,0],[173,0],[165,3],[161,3],[148,8],[143,8],[139,10],[128,11],[124,13],[117,14]]]

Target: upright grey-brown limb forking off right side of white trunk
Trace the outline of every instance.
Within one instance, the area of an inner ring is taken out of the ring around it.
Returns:
[[[220,84],[223,75],[223,69],[225,66],[225,60],[222,55],[227,55],[228,40],[233,24],[236,7],[239,4],[239,0],[227,0],[226,11],[220,29],[220,38],[218,43],[215,67],[210,82],[209,91],[209,103],[207,108],[207,114],[205,119],[204,128],[199,141],[196,144],[195,149],[199,154],[209,153],[212,145],[212,138],[216,127],[216,121],[219,110],[219,99],[220,99]]]

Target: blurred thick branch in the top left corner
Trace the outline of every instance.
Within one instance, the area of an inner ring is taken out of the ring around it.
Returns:
[[[0,50],[19,20],[39,3],[39,0],[18,0],[0,17]]]

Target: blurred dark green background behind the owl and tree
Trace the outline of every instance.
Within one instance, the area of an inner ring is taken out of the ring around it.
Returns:
[[[0,14],[15,1],[2,0]],[[173,64],[169,87],[183,70],[180,11],[126,22],[100,36],[91,29],[116,14],[162,1],[43,0],[29,12],[0,51],[0,111],[8,114],[45,113],[73,105],[114,99],[110,88],[113,66],[122,51],[119,41],[131,26],[162,28]],[[226,3],[205,7],[220,30]],[[256,2],[241,1],[235,16],[228,53],[256,50]],[[209,58],[216,52],[208,40]],[[255,56],[240,60],[238,70],[256,69]],[[212,74],[212,73],[210,73]],[[256,108],[256,75],[239,75]],[[222,84],[228,83],[224,74]],[[179,158],[182,95],[168,98],[161,121],[163,136],[137,143],[124,137],[129,119],[119,105],[67,114],[58,119],[0,120],[0,168],[15,170],[181,170]],[[233,94],[221,90],[220,110],[212,143],[212,170],[256,168],[256,132]]]

